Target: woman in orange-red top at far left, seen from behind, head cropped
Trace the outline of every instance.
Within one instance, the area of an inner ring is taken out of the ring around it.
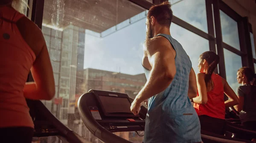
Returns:
[[[16,11],[22,0],[0,0],[1,143],[31,143],[34,124],[25,98],[50,100],[55,84],[41,30]],[[26,83],[31,70],[35,82]]]

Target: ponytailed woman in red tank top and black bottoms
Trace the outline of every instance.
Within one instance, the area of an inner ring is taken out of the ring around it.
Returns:
[[[201,129],[223,135],[225,107],[239,104],[239,99],[227,81],[214,72],[218,62],[219,56],[212,51],[200,55],[198,61],[200,73],[197,74],[198,94],[197,97],[192,98],[192,101],[199,116]],[[224,93],[229,100],[224,101]]]

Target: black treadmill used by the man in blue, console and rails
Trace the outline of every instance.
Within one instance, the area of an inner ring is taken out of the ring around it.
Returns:
[[[140,113],[134,115],[130,111],[132,101],[125,93],[89,90],[80,96],[78,110],[85,126],[102,142],[132,143],[113,134],[144,131],[147,109],[142,106]],[[253,143],[205,131],[201,131],[201,137],[204,143]]]

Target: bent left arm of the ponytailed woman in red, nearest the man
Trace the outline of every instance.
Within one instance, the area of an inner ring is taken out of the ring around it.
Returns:
[[[197,104],[206,104],[207,103],[207,88],[204,81],[205,73],[198,73],[196,75],[197,87],[198,87],[198,96],[193,98],[193,102]]]

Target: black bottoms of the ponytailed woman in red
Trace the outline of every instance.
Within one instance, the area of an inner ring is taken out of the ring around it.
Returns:
[[[224,135],[226,121],[224,119],[213,118],[207,115],[198,116],[201,124],[201,129],[207,132],[212,132],[218,135]]]

